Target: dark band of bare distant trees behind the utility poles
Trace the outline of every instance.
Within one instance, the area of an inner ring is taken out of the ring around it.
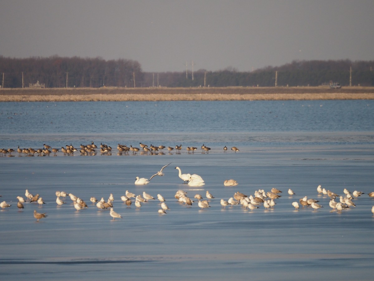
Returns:
[[[231,67],[191,72],[142,72],[134,60],[58,57],[5,58],[0,56],[0,85],[4,88],[29,87],[39,81],[46,88],[64,87],[272,87],[319,86],[340,83],[374,86],[374,61],[292,61],[252,72]],[[192,79],[193,78],[193,79]],[[135,81],[134,81],[135,79]]]

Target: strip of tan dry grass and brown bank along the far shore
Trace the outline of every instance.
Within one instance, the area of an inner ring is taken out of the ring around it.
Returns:
[[[374,99],[374,87],[4,88],[0,98],[1,102],[352,100]]]

